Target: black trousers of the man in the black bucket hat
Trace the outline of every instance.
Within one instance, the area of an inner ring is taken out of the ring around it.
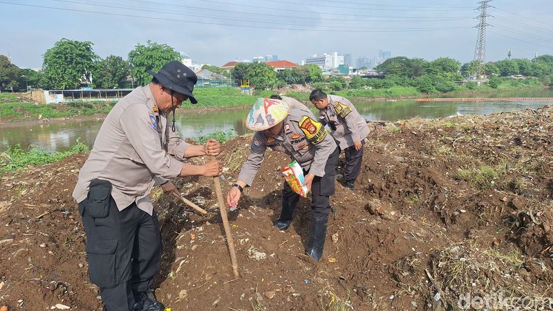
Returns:
[[[92,192],[91,188],[89,198]],[[95,212],[97,205],[89,198],[79,203],[79,213],[91,282],[100,288],[104,310],[133,310],[134,296],[149,289],[160,267],[158,216],[138,209],[135,203],[119,211],[108,195],[107,215],[93,217],[104,215]]]

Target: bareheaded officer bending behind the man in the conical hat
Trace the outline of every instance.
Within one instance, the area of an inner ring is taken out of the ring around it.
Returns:
[[[344,97],[326,95],[316,88],[311,92],[309,100],[319,109],[319,121],[330,127],[330,134],[346,153],[344,186],[353,190],[355,180],[361,172],[365,138],[370,132],[367,122]]]

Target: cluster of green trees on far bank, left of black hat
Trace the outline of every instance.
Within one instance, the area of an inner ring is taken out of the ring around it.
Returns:
[[[130,88],[150,82],[147,70],[159,70],[180,53],[167,44],[147,41],[137,44],[124,60],[120,56],[99,57],[91,41],[61,39],[44,53],[40,71],[21,69],[0,55],[0,88],[24,91],[28,86],[45,89]]]

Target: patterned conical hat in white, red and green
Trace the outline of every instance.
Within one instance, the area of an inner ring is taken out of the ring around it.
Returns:
[[[247,115],[246,127],[256,132],[265,131],[284,120],[287,115],[288,104],[283,100],[258,98]]]

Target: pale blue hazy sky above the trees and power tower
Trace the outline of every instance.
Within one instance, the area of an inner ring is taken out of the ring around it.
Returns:
[[[301,62],[318,53],[468,62],[478,15],[472,0],[0,0],[0,54],[39,68],[61,38],[92,41],[101,57],[126,55],[148,39],[169,44],[195,62],[279,55]],[[10,4],[11,3],[11,4]],[[14,4],[17,3],[17,4]],[[553,54],[552,0],[494,0],[487,60]],[[57,8],[57,9],[53,9]],[[61,9],[61,10],[60,10]],[[100,14],[103,13],[103,14]]]

